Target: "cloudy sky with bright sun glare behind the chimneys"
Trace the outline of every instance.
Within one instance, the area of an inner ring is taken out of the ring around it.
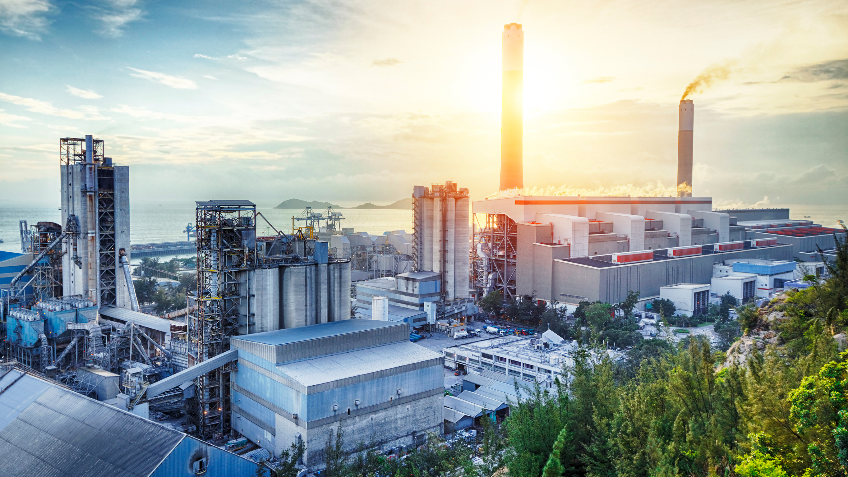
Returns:
[[[524,184],[848,202],[844,1],[0,0],[0,204],[59,203],[59,138],[105,141],[131,200],[389,203],[497,192],[500,32],[525,31]]]

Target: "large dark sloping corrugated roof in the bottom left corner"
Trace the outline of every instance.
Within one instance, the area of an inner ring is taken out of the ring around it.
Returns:
[[[23,394],[35,399],[0,430],[3,475],[147,476],[185,437],[29,374],[0,406],[20,407]]]

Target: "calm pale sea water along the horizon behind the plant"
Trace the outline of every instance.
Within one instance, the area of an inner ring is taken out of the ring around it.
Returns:
[[[130,209],[130,232],[132,243],[148,243],[154,241],[186,240],[187,224],[194,223],[193,203],[186,207],[176,205],[140,205]],[[789,207],[792,219],[803,219],[809,215],[817,224],[827,227],[838,227],[837,220],[848,222],[848,205],[789,205],[773,206]],[[292,230],[292,216],[297,216],[302,210],[280,208],[262,208],[257,210],[271,221],[277,229]],[[412,231],[412,212],[410,210],[363,210],[356,208],[338,209],[344,215],[343,227],[353,227],[356,231],[382,235],[387,230]],[[20,252],[20,235],[18,221],[27,220],[35,224],[39,220],[61,222],[62,212],[59,208],[26,208],[10,205],[0,205],[0,250]],[[300,223],[303,225],[303,222]],[[295,224],[297,226],[297,224]],[[260,235],[271,235],[273,231],[264,221],[259,220]]]

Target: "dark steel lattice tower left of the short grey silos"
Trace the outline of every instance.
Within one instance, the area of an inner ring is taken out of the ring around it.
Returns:
[[[189,315],[189,366],[225,352],[231,336],[247,334],[253,313],[248,269],[256,268],[256,205],[244,200],[197,202],[198,304]],[[230,365],[232,366],[232,365]],[[230,431],[230,371],[215,369],[194,380],[188,417],[204,441]]]

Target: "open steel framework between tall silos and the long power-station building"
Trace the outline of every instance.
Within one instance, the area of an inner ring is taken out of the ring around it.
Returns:
[[[480,222],[483,215],[483,223]],[[474,214],[474,242],[471,247],[471,277],[477,297],[500,291],[505,299],[516,297],[516,223],[506,214]],[[477,254],[479,244],[483,253]]]

